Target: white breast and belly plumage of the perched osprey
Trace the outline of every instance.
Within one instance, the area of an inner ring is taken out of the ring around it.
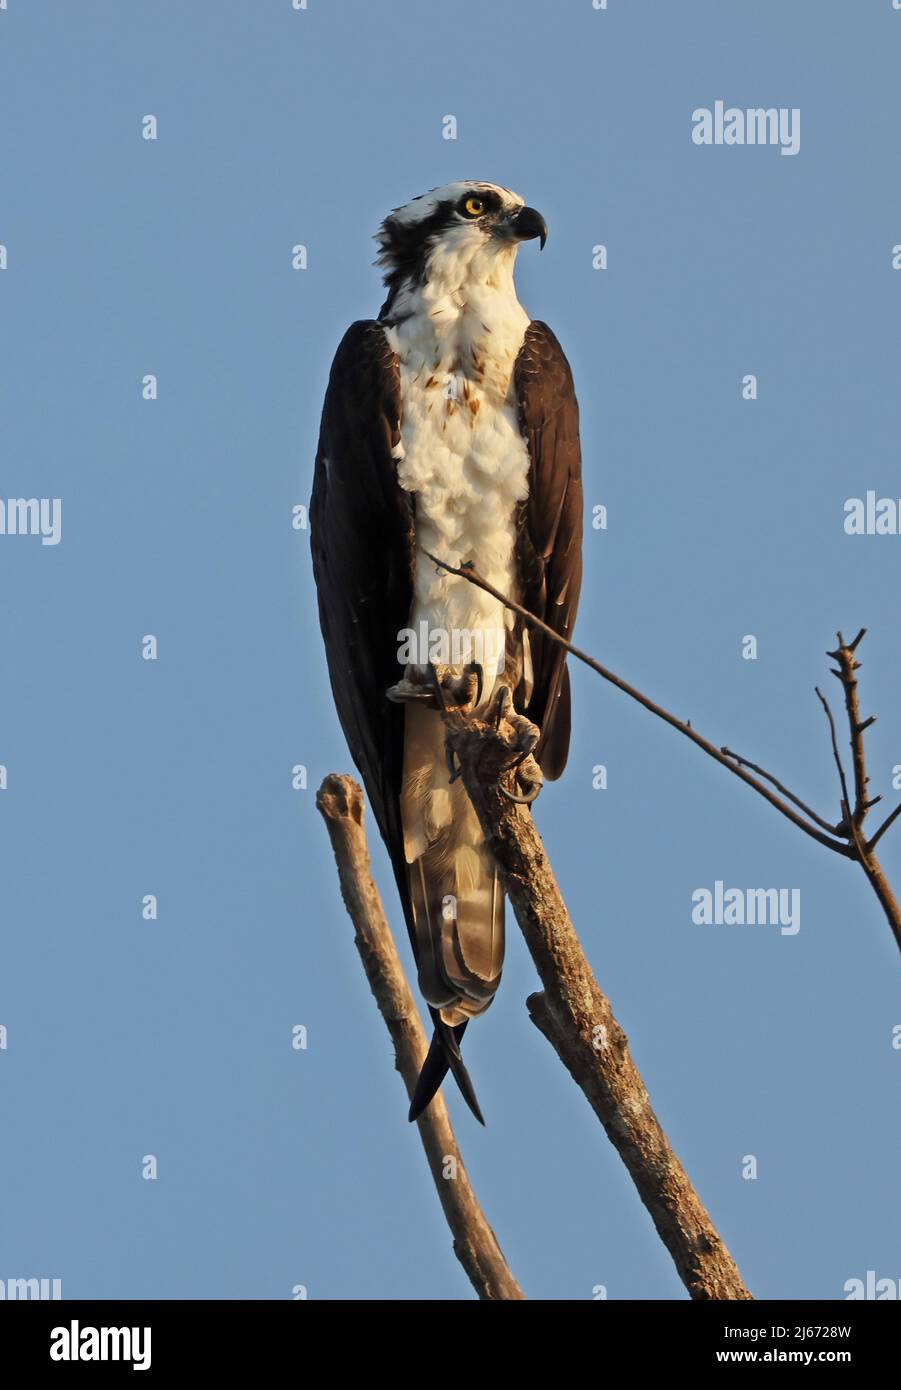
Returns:
[[[459,289],[430,277],[412,291],[388,329],[398,354],[403,417],[400,486],[414,493],[416,577],[410,626],[446,632],[452,664],[478,660],[491,673],[503,656],[509,614],[466,580],[437,571],[421,552],[459,566],[471,560],[505,594],[516,591],[516,507],[528,495],[528,453],[520,434],[513,366],[528,316],[510,274]],[[478,634],[478,637],[476,637]]]

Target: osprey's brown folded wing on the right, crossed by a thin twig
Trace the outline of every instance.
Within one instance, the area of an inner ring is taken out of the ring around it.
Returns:
[[[517,537],[521,602],[571,641],[581,588],[578,402],[563,349],[546,324],[528,325],[513,378],[531,460]],[[570,739],[566,652],[535,628],[528,641],[534,685],[524,713],[541,730],[537,758],[553,781],[566,766]]]

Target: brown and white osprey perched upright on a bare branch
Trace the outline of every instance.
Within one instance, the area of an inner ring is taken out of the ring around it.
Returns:
[[[439,706],[484,713],[505,687],[539,730],[545,777],[569,751],[565,651],[430,559],[473,563],[570,637],[578,406],[560,345],[513,285],[519,243],[546,235],[495,183],[448,183],[395,208],[375,238],[388,297],[345,334],[323,407],[310,525],[331,687],[435,1024],[410,1119],[448,1069],[482,1119],[460,1038],[503,962],[503,890],[449,777]]]

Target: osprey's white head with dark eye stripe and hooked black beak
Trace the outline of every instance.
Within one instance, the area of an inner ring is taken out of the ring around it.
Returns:
[[[548,228],[519,193],[496,183],[445,183],[395,207],[375,234],[377,264],[391,293],[430,282],[459,289],[467,281],[510,275],[520,242]]]

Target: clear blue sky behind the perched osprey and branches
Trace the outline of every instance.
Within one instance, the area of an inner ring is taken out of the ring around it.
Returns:
[[[838,695],[825,649],[869,627],[894,803],[901,537],[847,537],[843,506],[901,496],[900,46],[890,0],[0,11],[0,492],[63,499],[60,545],[0,537],[0,1276],[471,1297],[314,809],[350,764],[291,525],[336,342],[381,303],[371,234],[413,195],[482,178],[546,217],[520,296],[571,360],[587,505],[609,509],[580,644],[837,816],[813,685]],[[799,154],[694,146],[717,99],[799,107]],[[898,1277],[901,960],[875,898],[596,677],[573,684],[537,820],[747,1283]],[[884,859],[901,884],[897,833]],[[801,931],[694,926],[716,880],[799,888]],[[531,1297],[681,1298],[509,938],[467,1036],[488,1127],[450,1095],[503,1250]]]

